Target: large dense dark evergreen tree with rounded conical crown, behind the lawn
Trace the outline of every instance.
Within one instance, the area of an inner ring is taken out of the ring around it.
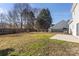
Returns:
[[[39,30],[48,30],[52,23],[49,9],[42,9],[36,20],[36,27]]]

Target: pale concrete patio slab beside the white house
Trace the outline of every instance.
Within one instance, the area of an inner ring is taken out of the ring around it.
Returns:
[[[64,41],[79,43],[79,38],[72,35],[66,35],[66,34],[56,34],[50,39],[57,39],[57,40],[64,40]]]

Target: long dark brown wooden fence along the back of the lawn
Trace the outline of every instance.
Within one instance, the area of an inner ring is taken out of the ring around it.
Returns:
[[[0,35],[2,34],[13,34],[13,33],[20,33],[20,32],[47,32],[47,29],[39,29],[39,31],[35,29],[8,29],[8,28],[1,28]]]

